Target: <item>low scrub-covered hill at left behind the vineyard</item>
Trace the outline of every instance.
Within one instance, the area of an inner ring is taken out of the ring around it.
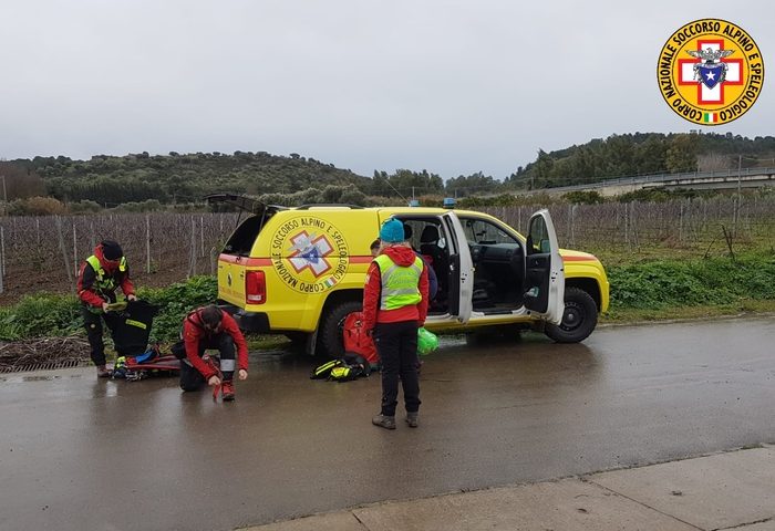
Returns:
[[[292,194],[313,185],[354,185],[371,179],[313,158],[291,154],[235,152],[179,155],[96,155],[90,160],[35,157],[11,164],[39,175],[49,196],[66,202],[92,200],[101,206],[156,199],[162,204],[198,201],[218,191]]]

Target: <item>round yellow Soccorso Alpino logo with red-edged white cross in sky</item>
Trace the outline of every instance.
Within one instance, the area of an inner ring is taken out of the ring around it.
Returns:
[[[740,118],[764,84],[764,59],[751,35],[720,19],[689,22],[660,52],[657,80],[675,114],[699,125]]]

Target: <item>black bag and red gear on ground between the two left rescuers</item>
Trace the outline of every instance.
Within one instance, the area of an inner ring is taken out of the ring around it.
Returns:
[[[116,363],[112,377],[136,382],[151,376],[173,376],[180,372],[180,361],[174,355],[163,356],[158,345],[148,347],[151,327],[158,306],[146,301],[128,301],[108,308],[116,313],[113,327]]]

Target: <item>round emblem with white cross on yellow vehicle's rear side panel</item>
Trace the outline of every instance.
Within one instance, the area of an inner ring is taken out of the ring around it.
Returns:
[[[275,231],[270,243],[275,273],[300,293],[322,293],[348,271],[348,243],[329,221],[314,216],[291,218]]]

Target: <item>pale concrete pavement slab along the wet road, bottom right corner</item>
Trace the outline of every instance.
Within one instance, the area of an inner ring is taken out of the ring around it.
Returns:
[[[386,501],[248,531],[775,531],[775,447]]]

